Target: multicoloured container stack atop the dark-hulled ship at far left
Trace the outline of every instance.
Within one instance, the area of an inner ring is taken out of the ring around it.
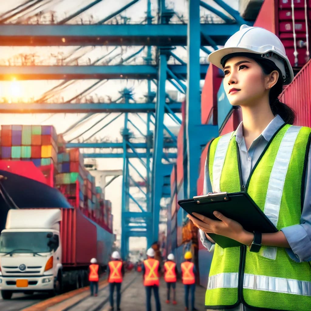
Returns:
[[[2,125],[1,159],[32,161],[54,186],[57,171],[57,135],[48,125]]]

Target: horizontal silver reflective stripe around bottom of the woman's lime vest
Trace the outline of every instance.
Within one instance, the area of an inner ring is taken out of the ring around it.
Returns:
[[[207,289],[238,287],[238,273],[220,273],[208,279]],[[311,282],[289,280],[272,276],[245,274],[243,287],[254,290],[267,290],[292,295],[311,295]]]

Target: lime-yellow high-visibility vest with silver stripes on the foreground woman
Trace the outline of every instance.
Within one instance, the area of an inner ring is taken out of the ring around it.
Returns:
[[[310,132],[306,127],[281,127],[242,187],[234,133],[216,138],[207,160],[213,192],[246,191],[278,230],[299,224]],[[217,309],[242,301],[258,308],[308,311],[310,281],[309,263],[293,261],[285,248],[262,246],[253,253],[247,246],[223,249],[216,244],[205,305]]]

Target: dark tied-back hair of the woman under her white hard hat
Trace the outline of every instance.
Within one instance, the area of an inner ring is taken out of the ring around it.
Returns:
[[[283,91],[283,77],[281,70],[276,67],[275,63],[273,63],[269,59],[262,58],[261,55],[254,54],[254,53],[232,53],[229,55],[226,55],[224,58],[221,59],[221,64],[224,67],[225,62],[234,56],[246,56],[248,58],[252,58],[258,65],[262,68],[262,71],[264,74],[268,75],[272,71],[276,70],[279,72],[279,79],[277,80],[276,84],[272,86],[269,92],[269,104],[270,108],[272,110],[273,115],[278,114],[285,123],[287,124],[293,124],[296,118],[295,111],[291,109],[286,104],[280,102],[279,95]]]

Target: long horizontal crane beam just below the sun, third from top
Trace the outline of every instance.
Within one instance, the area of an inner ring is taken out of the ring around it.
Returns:
[[[181,112],[181,103],[167,104],[173,112]],[[165,109],[169,113],[169,109]],[[0,104],[0,113],[103,113],[103,112],[155,112],[155,103],[96,103],[96,104],[34,104],[34,103],[12,103]]]

